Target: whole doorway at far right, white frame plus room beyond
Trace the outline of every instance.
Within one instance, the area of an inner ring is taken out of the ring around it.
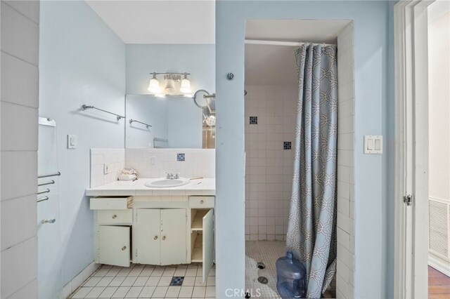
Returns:
[[[449,265],[449,5],[404,1],[394,8],[395,298],[450,293],[434,270],[444,274],[448,266],[441,266]]]

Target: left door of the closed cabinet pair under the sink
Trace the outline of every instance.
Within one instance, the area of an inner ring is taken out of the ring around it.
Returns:
[[[138,208],[133,231],[136,263],[160,265],[160,210]]]

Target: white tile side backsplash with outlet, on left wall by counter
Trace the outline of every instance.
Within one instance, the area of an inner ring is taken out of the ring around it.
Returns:
[[[105,174],[105,164],[108,173]],[[125,166],[124,149],[91,149],[91,187],[98,187],[117,180]]]

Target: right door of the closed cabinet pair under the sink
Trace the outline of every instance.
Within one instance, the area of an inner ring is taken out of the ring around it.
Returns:
[[[186,264],[186,209],[161,210],[161,265]]]

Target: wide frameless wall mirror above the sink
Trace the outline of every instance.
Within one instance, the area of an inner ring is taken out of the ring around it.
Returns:
[[[215,148],[215,100],[126,95],[127,148]]]

